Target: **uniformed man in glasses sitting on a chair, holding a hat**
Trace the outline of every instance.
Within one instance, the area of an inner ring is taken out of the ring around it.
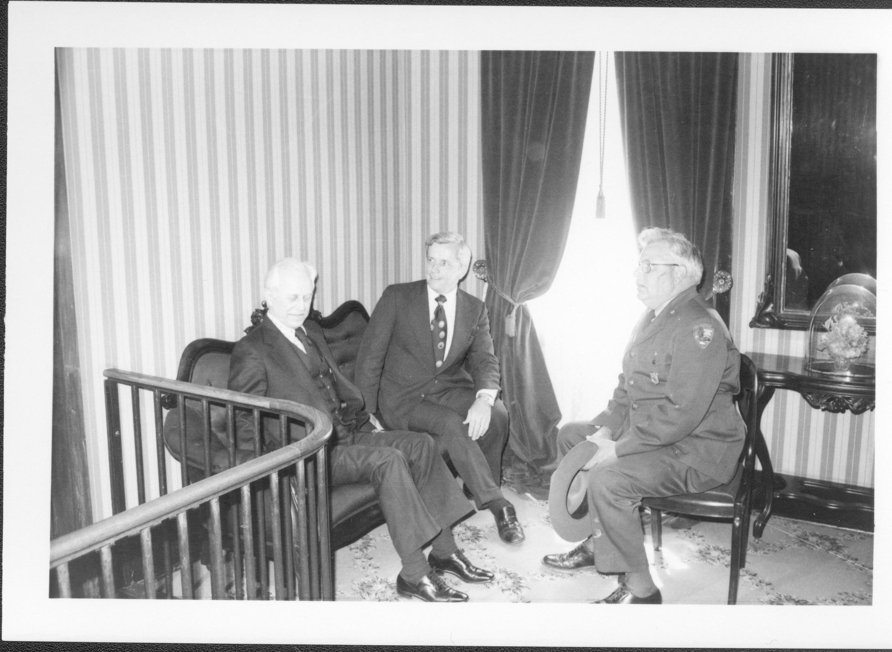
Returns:
[[[613,399],[590,424],[568,424],[558,433],[562,456],[585,439],[598,444],[582,467],[588,470],[592,536],[542,561],[624,574],[599,602],[659,604],[640,500],[729,482],[745,428],[732,400],[739,392],[740,354],[722,318],[697,293],[703,276],[697,247],[663,228],[644,229],[639,244],[635,281],[648,311],[625,350]]]

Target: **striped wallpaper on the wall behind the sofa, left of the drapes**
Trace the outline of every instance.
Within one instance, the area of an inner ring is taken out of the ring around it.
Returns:
[[[435,231],[483,252],[478,53],[60,49],[57,65],[96,518],[104,368],[172,378],[187,343],[237,339],[282,256],[318,268],[327,314],[420,277]]]

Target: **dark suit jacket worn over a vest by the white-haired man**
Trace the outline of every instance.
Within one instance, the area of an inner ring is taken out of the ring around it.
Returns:
[[[310,320],[305,321],[303,327],[326,364],[332,368],[338,393],[346,403],[342,411],[344,419],[355,421],[363,430],[372,430],[372,426],[368,424],[368,413],[362,409],[362,393],[338,369],[322,329]],[[285,335],[270,319],[261,321],[251,333],[235,343],[229,361],[229,389],[272,399],[295,400],[320,410],[331,417],[332,423],[337,423],[337,417],[328,409],[326,399],[318,391],[310,371],[303,364],[300,352],[285,339]],[[291,439],[289,442],[282,442],[277,418],[265,417],[264,422],[266,450],[277,449],[283,443],[297,441],[306,434],[303,425],[293,423],[290,427]],[[240,448],[246,443],[253,446],[250,413],[239,413],[236,431]]]

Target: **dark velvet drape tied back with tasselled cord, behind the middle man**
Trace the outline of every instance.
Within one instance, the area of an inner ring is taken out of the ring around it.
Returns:
[[[591,52],[482,54],[486,260],[491,284],[511,298],[490,287],[486,302],[511,449],[539,469],[554,463],[561,415],[522,304],[549,289],[564,253],[593,65]]]

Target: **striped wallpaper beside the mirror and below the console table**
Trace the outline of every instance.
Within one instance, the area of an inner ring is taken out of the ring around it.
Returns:
[[[801,356],[805,332],[748,326],[768,255],[771,54],[741,54],[739,61],[731,333],[740,351]],[[874,418],[872,411],[823,412],[797,392],[779,390],[765,409],[762,431],[776,471],[872,487]]]

